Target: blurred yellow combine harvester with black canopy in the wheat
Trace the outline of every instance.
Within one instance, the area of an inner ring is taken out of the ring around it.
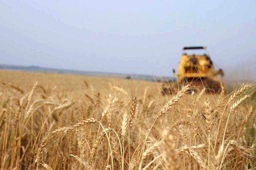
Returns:
[[[187,50],[205,50],[203,55],[192,54],[188,55]],[[178,73],[173,69],[174,75],[177,77],[176,81],[166,81],[162,84],[161,90],[163,94],[172,94],[177,91],[178,86],[186,83],[190,83],[192,89],[198,92],[199,89],[205,88],[207,92],[217,93],[220,88],[220,80],[217,75],[223,76],[222,69],[215,70],[213,67],[210,55],[207,53],[204,46],[190,46],[183,48],[183,54],[181,55]]]

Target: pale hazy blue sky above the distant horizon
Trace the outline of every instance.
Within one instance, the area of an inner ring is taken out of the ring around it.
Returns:
[[[0,1],[0,64],[170,75],[183,46],[256,79],[256,1]],[[249,68],[249,69],[248,69]]]

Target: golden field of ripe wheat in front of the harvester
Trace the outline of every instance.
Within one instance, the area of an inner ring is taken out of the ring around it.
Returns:
[[[162,95],[159,82],[0,71],[0,167],[256,169],[254,84]]]

